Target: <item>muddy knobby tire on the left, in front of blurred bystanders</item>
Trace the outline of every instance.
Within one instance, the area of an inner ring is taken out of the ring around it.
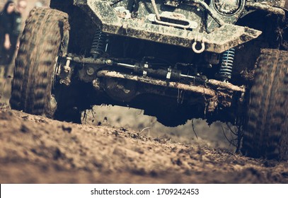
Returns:
[[[11,108],[53,117],[56,59],[68,16],[50,8],[30,12],[21,37],[11,88]]]

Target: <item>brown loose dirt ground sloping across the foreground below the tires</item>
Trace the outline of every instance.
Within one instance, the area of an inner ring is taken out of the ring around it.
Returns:
[[[288,182],[286,162],[0,110],[1,183]]]

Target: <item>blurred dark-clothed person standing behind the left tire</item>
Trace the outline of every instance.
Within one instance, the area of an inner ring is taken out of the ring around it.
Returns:
[[[19,45],[18,37],[21,33],[22,13],[25,11],[27,1],[7,1],[0,14],[0,74],[7,76],[8,66]]]

